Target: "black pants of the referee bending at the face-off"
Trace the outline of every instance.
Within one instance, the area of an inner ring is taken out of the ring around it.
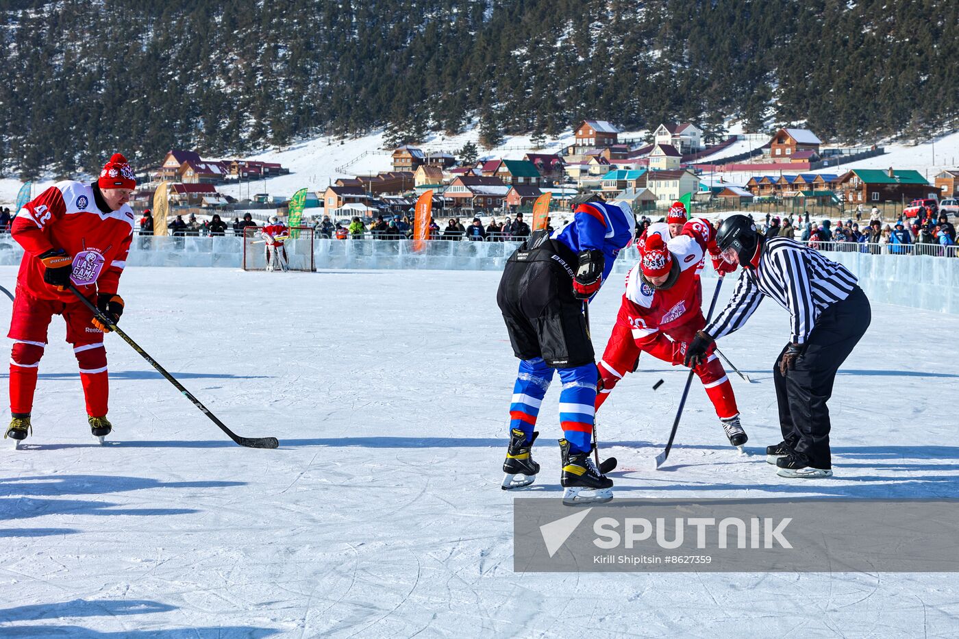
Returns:
[[[846,299],[820,314],[795,368],[785,375],[780,372],[785,348],[776,358],[773,379],[783,440],[794,451],[806,454],[813,468],[832,467],[830,409],[826,402],[832,395],[836,371],[853,352],[872,319],[869,299],[857,286]]]

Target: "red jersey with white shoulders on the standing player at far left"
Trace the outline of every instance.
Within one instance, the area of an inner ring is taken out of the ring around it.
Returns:
[[[24,249],[17,286],[38,299],[76,301],[69,291],[58,291],[43,281],[38,255],[63,249],[73,256],[71,279],[86,296],[117,292],[127,265],[135,219],[129,205],[110,211],[98,205],[92,184],[57,182],[23,205],[13,219],[11,233]]]

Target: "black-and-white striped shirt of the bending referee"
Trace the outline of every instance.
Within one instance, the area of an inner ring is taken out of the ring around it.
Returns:
[[[768,296],[792,316],[790,341],[806,343],[819,314],[849,296],[856,281],[846,267],[795,240],[763,240],[759,267],[742,270],[729,304],[704,330],[713,340],[737,331]]]

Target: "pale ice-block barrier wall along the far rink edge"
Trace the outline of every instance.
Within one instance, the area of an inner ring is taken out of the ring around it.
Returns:
[[[416,253],[408,240],[317,239],[317,270],[428,269],[502,271],[515,242],[428,242]],[[959,315],[959,259],[930,255],[872,255],[825,251],[844,264],[871,299],[901,306]],[[0,265],[20,263],[23,249],[7,236],[0,238]],[[239,237],[134,237],[128,266],[220,267],[239,269],[243,243]],[[636,263],[635,248],[620,253],[613,269],[624,274]],[[703,272],[711,279],[712,269]]]

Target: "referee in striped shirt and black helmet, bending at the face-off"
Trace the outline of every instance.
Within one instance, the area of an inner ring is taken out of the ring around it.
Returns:
[[[763,296],[772,297],[792,324],[773,366],[783,441],[766,448],[766,461],[775,461],[782,477],[830,477],[826,402],[836,370],[869,327],[869,299],[846,267],[795,240],[763,238],[744,215],[723,221],[716,245],[743,270],[729,304],[690,343],[686,365],[695,366],[714,340],[746,323]]]

